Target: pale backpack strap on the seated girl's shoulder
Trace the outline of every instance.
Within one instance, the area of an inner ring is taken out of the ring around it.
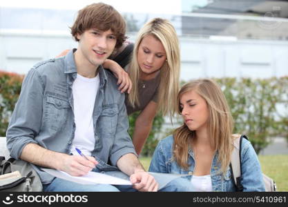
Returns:
[[[236,191],[243,191],[243,186],[241,184],[241,148],[242,148],[242,139],[248,139],[245,135],[240,135],[240,137],[236,138],[233,142],[233,151],[231,155],[231,174],[233,176],[233,184],[236,186]]]

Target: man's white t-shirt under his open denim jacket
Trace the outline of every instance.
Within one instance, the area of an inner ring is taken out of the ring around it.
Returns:
[[[89,79],[77,74],[72,90],[74,99],[75,137],[71,152],[78,155],[78,148],[84,155],[91,155],[95,146],[93,110],[97,90],[99,88],[99,75]]]

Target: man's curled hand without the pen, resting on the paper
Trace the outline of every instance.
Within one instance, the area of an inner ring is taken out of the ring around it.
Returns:
[[[143,192],[157,192],[158,184],[155,178],[148,172],[139,171],[130,176],[133,188]]]

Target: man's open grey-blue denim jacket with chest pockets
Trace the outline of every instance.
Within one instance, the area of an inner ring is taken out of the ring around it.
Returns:
[[[26,144],[34,143],[55,152],[70,153],[75,135],[73,81],[77,77],[74,50],[65,57],[42,61],[26,75],[19,100],[7,130],[10,156],[19,159]],[[93,110],[96,171],[117,170],[117,160],[136,155],[128,135],[125,96],[117,90],[117,79],[99,66],[99,89]],[[107,163],[110,163],[108,165]],[[34,166],[43,184],[53,177]]]

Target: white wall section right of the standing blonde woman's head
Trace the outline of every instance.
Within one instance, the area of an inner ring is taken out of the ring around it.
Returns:
[[[288,75],[288,41],[184,39],[182,79]]]

